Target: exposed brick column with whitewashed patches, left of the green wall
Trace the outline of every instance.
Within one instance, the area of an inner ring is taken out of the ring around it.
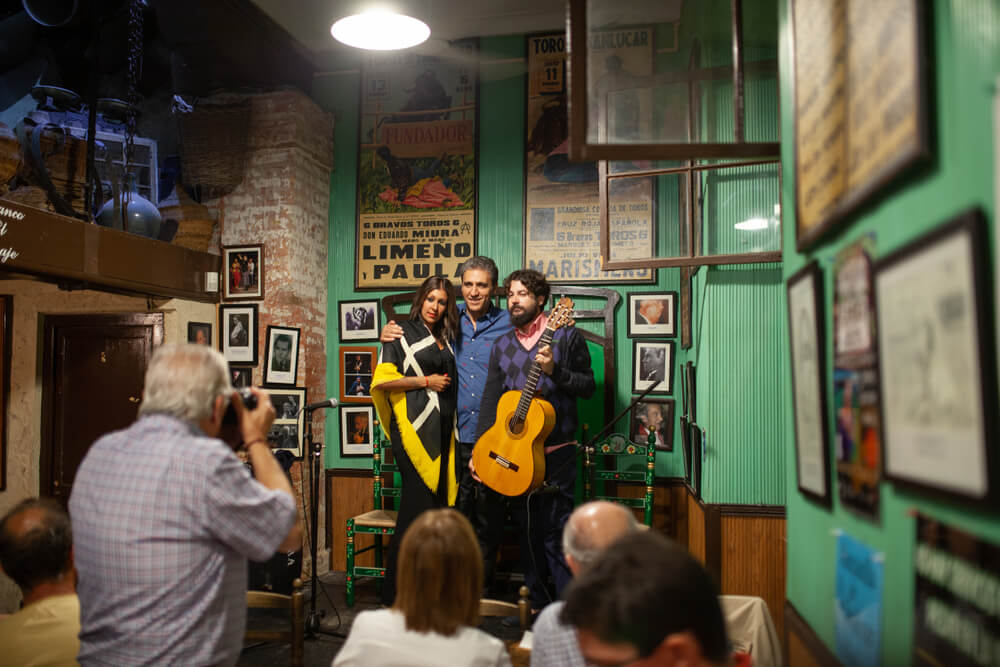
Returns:
[[[231,101],[232,95],[226,100]],[[230,194],[206,202],[219,212],[223,245],[264,244],[264,300],[260,306],[262,382],[267,326],[302,330],[297,386],[309,401],[327,396],[326,303],[327,218],[333,168],[333,116],[303,93],[287,90],[251,98],[252,115],[243,182]],[[326,411],[317,411],[313,432],[323,437]],[[308,456],[292,468],[296,491],[309,502]],[[317,572],[329,569],[325,545],[323,470],[320,467]],[[298,498],[300,512],[302,498]],[[303,517],[309,520],[308,512]],[[307,524],[308,525],[308,524]],[[308,573],[308,549],[304,550]]]

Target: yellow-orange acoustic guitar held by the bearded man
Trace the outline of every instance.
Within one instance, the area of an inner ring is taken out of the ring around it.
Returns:
[[[557,329],[572,326],[573,301],[563,297],[549,313],[538,347],[552,344]],[[542,367],[531,365],[521,391],[508,391],[497,403],[493,426],[472,449],[472,465],[486,486],[505,496],[537,489],[545,479],[545,439],[556,425],[552,404],[535,398]]]

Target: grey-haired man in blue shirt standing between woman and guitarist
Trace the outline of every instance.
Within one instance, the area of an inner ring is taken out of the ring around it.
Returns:
[[[486,583],[493,578],[496,564],[495,544],[483,542],[484,524],[502,521],[504,497],[476,482],[469,471],[472,447],[476,444],[479,423],[479,402],[486,386],[493,343],[511,330],[510,316],[498,308],[490,297],[499,279],[496,263],[489,257],[472,257],[460,267],[462,300],[458,306],[460,329],[455,341],[455,365],[458,369],[458,456],[455,475],[458,479],[458,499],[455,508],[466,515],[480,537],[486,567]],[[382,330],[382,342],[395,340],[403,330],[389,322]]]

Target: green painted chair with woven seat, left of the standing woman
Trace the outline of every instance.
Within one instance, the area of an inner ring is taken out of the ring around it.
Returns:
[[[372,486],[374,507],[370,512],[359,514],[347,520],[347,606],[354,606],[354,586],[358,577],[376,577],[377,587],[381,591],[382,579],[385,578],[385,567],[382,562],[383,544],[382,540],[386,536],[392,536],[396,531],[396,517],[398,512],[392,507],[394,499],[399,497],[399,488],[394,486],[393,480],[398,467],[395,463],[386,463],[387,457],[392,456],[392,444],[388,436],[381,428],[378,421],[375,422],[373,431],[375,438],[375,450],[372,453]],[[388,483],[383,479],[388,476]],[[355,551],[355,534],[369,534],[374,537],[371,546]],[[355,565],[355,558],[366,551],[374,551],[375,566],[360,567]]]

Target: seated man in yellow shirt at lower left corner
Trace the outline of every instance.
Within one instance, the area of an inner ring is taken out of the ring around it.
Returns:
[[[18,503],[0,519],[0,567],[24,605],[0,618],[0,665],[76,665],[80,602],[65,510],[49,499]]]

